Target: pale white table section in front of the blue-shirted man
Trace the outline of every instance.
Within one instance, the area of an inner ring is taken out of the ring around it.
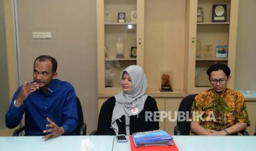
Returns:
[[[41,136],[0,137],[1,151],[75,151],[80,150],[81,141],[89,139],[93,143],[90,151],[112,150],[113,136],[60,136],[43,141]]]

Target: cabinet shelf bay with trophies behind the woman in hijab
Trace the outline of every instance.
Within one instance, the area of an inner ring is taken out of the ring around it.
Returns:
[[[137,64],[136,10],[136,0],[104,0],[105,87],[120,87],[123,69]]]

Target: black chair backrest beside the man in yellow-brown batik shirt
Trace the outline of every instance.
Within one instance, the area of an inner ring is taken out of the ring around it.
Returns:
[[[187,114],[190,114],[191,107],[194,102],[194,98],[197,95],[198,94],[188,95],[188,96],[184,97],[182,99],[181,103],[179,104],[178,111],[184,112],[185,113],[184,117],[189,117],[189,115],[187,115]],[[178,119],[181,119],[181,118],[179,118],[179,114],[178,114]],[[181,131],[181,135],[189,135],[190,121],[188,121],[188,119],[186,119],[184,121],[177,120],[177,126],[179,127],[179,130]]]

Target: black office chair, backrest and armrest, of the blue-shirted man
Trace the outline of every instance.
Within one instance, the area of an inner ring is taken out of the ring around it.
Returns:
[[[78,109],[78,126],[77,126],[77,129],[75,129],[75,135],[86,135],[86,123],[84,123],[84,115],[83,115],[81,102],[78,96],[75,96],[75,100],[77,100],[77,109]],[[25,130],[25,125],[16,129],[13,132],[13,136],[19,136],[20,132],[23,130]]]

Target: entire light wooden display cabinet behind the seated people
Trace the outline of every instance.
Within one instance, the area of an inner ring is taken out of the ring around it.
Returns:
[[[213,4],[227,5],[226,22],[211,21]],[[197,22],[198,7],[203,8],[204,22]],[[137,10],[136,23],[130,22],[133,10]],[[112,19],[106,21],[106,12],[111,13]],[[118,12],[126,13],[126,22],[118,23]],[[227,63],[233,77],[237,18],[238,0],[97,0],[99,109],[103,101],[121,91],[120,72],[129,65],[143,67],[149,84],[146,94],[155,97],[160,111],[173,114],[184,96],[210,88],[205,69],[211,64]],[[128,30],[130,24],[135,27],[133,30]],[[126,43],[122,59],[116,57],[118,36]],[[215,54],[216,45],[222,44],[228,46],[228,56],[196,57],[197,41],[201,42],[201,54],[204,45],[212,45]],[[131,47],[137,47],[137,57],[130,57]],[[172,72],[172,92],[159,90],[162,71]],[[234,79],[228,84],[231,89]],[[173,133],[176,123],[165,119],[160,128]]]

